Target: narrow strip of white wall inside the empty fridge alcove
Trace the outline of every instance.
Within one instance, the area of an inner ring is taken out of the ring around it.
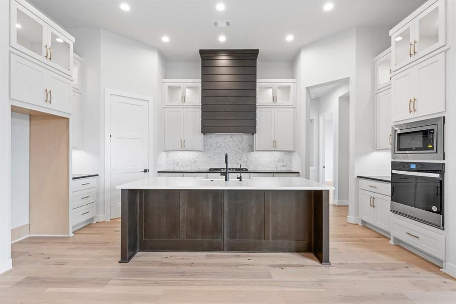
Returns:
[[[11,229],[30,214],[30,116],[11,112]]]

